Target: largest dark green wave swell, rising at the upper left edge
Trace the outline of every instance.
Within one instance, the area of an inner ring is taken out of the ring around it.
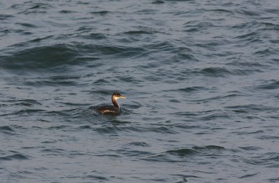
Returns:
[[[90,35],[89,35],[90,36]],[[23,49],[24,44],[13,45],[0,56],[0,68],[9,71],[33,72],[65,72],[71,66],[83,66],[91,61],[98,61],[99,55],[114,55],[114,57],[135,57],[146,52],[142,47],[126,47],[123,45],[80,45],[56,44]],[[17,50],[19,47],[21,50]],[[90,51],[89,51],[90,50]],[[90,57],[84,59],[84,54],[91,52]],[[98,64],[101,66],[102,64]]]

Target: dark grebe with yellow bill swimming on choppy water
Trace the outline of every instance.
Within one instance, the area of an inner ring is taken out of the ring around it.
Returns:
[[[100,112],[102,115],[120,115],[120,107],[117,103],[117,99],[119,98],[126,98],[121,96],[121,94],[113,93],[112,94],[112,103],[113,105],[105,105],[105,106],[98,106],[96,110]]]

